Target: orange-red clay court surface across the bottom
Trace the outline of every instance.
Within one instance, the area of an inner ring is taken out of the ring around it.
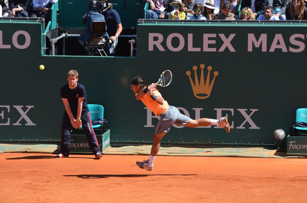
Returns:
[[[0,202],[306,202],[307,159],[0,154]]]

